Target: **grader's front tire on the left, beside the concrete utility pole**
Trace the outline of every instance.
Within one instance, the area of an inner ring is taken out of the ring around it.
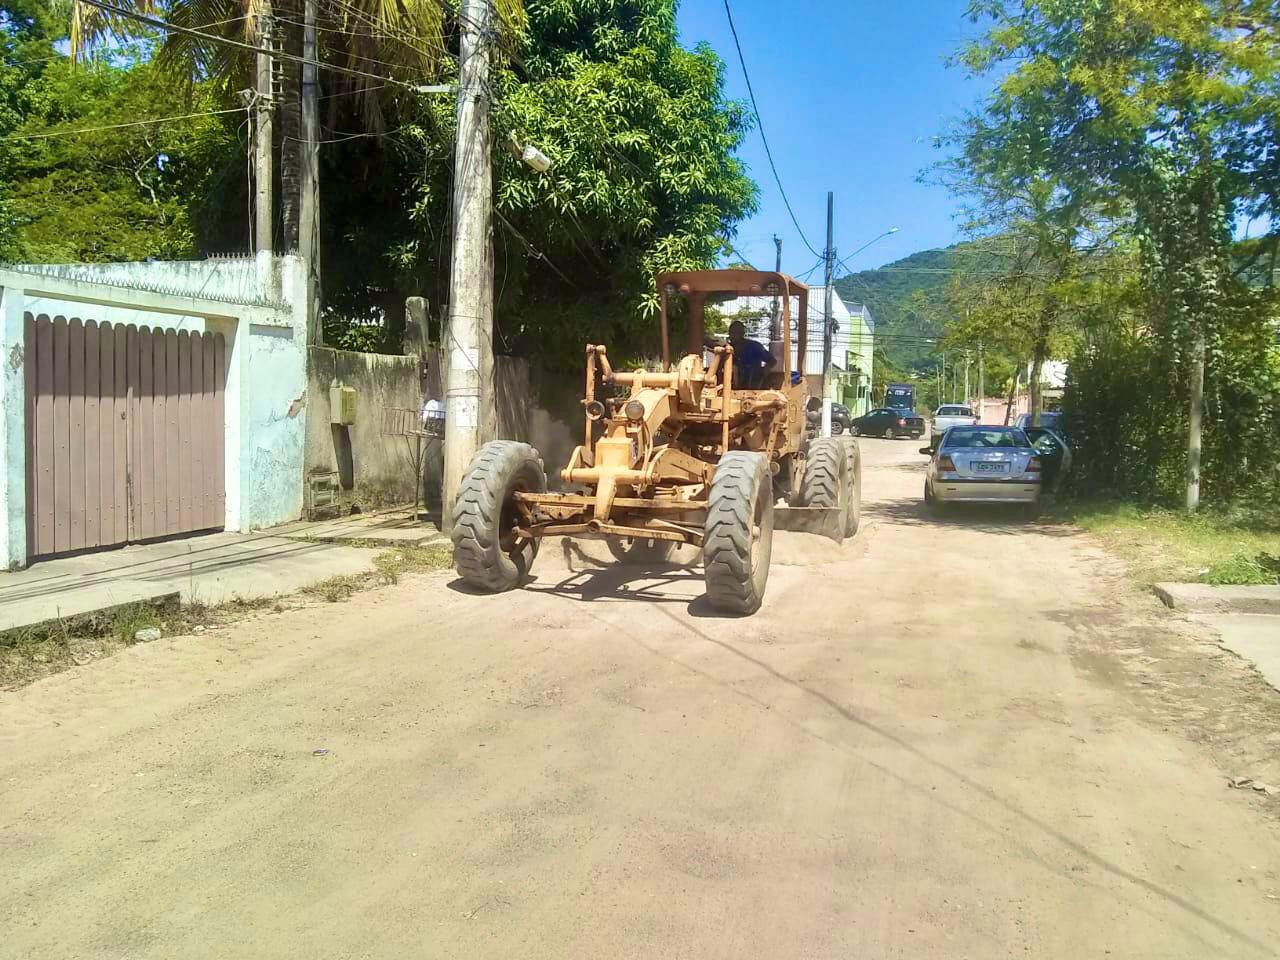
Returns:
[[[490,440],[467,467],[453,503],[453,566],[468,586],[502,593],[529,576],[538,540],[513,535],[517,490],[547,490],[538,451],[517,440]]]

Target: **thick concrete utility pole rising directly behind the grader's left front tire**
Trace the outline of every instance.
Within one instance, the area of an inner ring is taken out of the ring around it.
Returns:
[[[444,419],[444,527],[480,444],[495,431],[493,396],[493,168],[489,154],[489,44],[493,0],[462,0],[453,264]]]

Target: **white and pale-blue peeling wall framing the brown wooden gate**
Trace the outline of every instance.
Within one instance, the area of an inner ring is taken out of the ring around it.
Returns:
[[[228,530],[302,512],[306,285],[302,261],[18,265],[0,269],[0,568],[27,562],[23,314],[186,326],[227,340]]]

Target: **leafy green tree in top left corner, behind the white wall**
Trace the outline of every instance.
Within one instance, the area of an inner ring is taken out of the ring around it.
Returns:
[[[209,115],[212,92],[179,90],[145,49],[73,65],[55,46],[65,20],[42,4],[9,10],[0,36],[4,259],[195,255],[209,207],[236,196],[243,178],[233,132]],[[193,115],[142,122],[156,104]]]

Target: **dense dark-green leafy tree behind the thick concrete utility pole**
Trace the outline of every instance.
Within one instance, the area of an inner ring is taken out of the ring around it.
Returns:
[[[652,355],[654,274],[712,266],[754,210],[733,155],[746,114],[726,100],[716,54],[678,44],[672,0],[527,6],[522,67],[495,82],[494,346],[563,365],[581,362],[585,342]],[[443,314],[452,111],[443,99],[404,101],[393,136],[325,157],[323,183],[343,183],[324,224],[330,342],[364,311],[385,317],[397,343],[410,294]],[[502,148],[509,136],[543,150],[550,170]]]

